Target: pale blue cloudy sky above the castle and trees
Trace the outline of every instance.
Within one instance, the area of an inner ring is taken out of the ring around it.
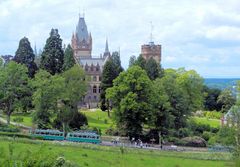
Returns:
[[[205,78],[240,78],[239,0],[0,0],[0,55],[14,55],[28,37],[42,49],[51,28],[71,41],[79,13],[93,37],[93,56],[121,52],[123,67],[150,41],[162,45],[162,66]]]

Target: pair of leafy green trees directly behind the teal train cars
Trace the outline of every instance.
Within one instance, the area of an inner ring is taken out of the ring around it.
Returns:
[[[62,125],[61,129],[66,131],[71,121],[72,128],[77,129],[83,125],[82,123],[86,123],[85,117],[79,116],[77,109],[78,102],[86,92],[85,74],[79,66],[75,65],[62,75],[54,76],[40,70],[32,85],[36,89],[34,93],[36,111],[33,121],[39,128],[51,128],[52,125],[60,128],[59,125]]]

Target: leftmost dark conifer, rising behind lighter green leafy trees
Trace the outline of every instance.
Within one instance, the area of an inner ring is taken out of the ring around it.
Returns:
[[[28,38],[24,37],[20,40],[18,49],[15,53],[14,61],[27,66],[28,76],[33,78],[37,71],[37,65],[34,62],[35,55]]]

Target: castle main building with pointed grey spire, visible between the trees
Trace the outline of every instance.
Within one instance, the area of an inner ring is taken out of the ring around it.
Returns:
[[[84,17],[79,16],[71,43],[75,61],[85,70],[89,77],[87,94],[81,106],[96,108],[100,100],[103,66],[111,56],[108,49],[108,41],[106,40],[103,56],[92,57],[92,36],[91,33],[88,33]]]

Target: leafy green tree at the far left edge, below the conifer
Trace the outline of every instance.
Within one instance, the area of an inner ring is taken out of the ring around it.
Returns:
[[[11,114],[29,91],[27,73],[25,65],[13,61],[0,70],[0,106],[7,114],[8,124]]]

